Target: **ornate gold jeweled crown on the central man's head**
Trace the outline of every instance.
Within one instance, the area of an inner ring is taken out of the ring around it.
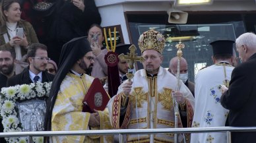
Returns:
[[[147,49],[154,49],[159,53],[162,53],[165,43],[166,40],[164,39],[164,36],[154,29],[143,32],[138,41],[141,53]]]

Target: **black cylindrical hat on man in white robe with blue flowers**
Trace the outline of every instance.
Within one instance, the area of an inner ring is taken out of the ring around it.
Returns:
[[[212,45],[212,51],[213,55],[219,55],[219,54],[227,54],[233,53],[233,43],[232,40],[216,40],[214,42],[211,42],[210,45]]]

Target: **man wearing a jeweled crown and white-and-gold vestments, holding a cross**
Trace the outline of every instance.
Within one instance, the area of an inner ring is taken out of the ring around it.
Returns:
[[[180,92],[175,92],[177,78],[160,67],[164,45],[164,36],[155,30],[148,30],[140,36],[144,69],[135,72],[132,82],[125,80],[108,103],[114,129],[174,128],[173,96],[191,127],[194,98],[183,82],[180,82]],[[178,127],[182,127],[180,118]],[[183,137],[178,137],[181,142]],[[127,143],[174,142],[174,134],[128,134],[126,139]]]

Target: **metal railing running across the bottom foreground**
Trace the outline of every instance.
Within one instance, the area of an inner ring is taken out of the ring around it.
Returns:
[[[32,143],[32,136],[75,136],[75,135],[114,135],[118,134],[123,140],[123,134],[164,134],[164,133],[202,133],[227,132],[227,143],[231,143],[231,132],[255,132],[256,127],[205,127],[205,128],[177,128],[177,129],[119,129],[119,130],[72,130],[72,131],[38,131],[38,132],[1,132],[0,137],[28,137]]]

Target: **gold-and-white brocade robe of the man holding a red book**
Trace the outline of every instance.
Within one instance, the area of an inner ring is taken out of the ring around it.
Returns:
[[[82,112],[82,100],[92,84],[91,76],[86,74],[77,76],[68,73],[61,83],[53,113],[51,117],[51,130],[89,130],[90,113]],[[108,109],[99,111],[100,127],[92,130],[112,129]],[[65,142],[113,142],[112,136],[54,136],[53,143]]]

